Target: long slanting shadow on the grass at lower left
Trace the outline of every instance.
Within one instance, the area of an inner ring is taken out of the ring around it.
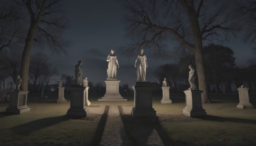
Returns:
[[[11,129],[14,132],[17,132],[17,134],[28,135],[30,132],[34,132],[36,130],[55,125],[69,119],[70,117],[68,117],[67,115],[59,117],[47,117],[44,119],[38,119],[18,126],[14,126]]]

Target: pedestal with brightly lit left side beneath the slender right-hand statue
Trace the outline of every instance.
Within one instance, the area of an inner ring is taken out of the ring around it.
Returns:
[[[201,90],[185,90],[186,107],[183,109],[183,115],[188,117],[199,117],[207,115],[202,107]]]

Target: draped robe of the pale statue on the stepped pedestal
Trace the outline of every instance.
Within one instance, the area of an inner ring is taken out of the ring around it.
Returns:
[[[112,59],[108,61],[108,69],[107,69],[108,78],[116,79],[116,72],[117,72],[116,71],[116,66],[117,66],[116,60],[117,60],[117,57],[116,57],[116,55],[109,54],[107,60],[110,57],[112,57]]]

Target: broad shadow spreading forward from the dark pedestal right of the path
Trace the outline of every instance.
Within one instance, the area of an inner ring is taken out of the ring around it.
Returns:
[[[145,146],[148,143],[148,138],[150,136],[156,136],[154,129],[157,131],[165,146],[170,146],[174,143],[173,140],[168,137],[168,132],[166,132],[158,122],[158,118],[133,119],[131,115],[124,114],[122,106],[118,106],[118,109],[124,124],[125,132],[133,146]]]

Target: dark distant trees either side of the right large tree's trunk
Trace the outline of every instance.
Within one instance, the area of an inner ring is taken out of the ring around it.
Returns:
[[[233,50],[225,46],[210,44],[204,47],[207,88],[210,93],[233,93],[232,85],[235,85],[236,89],[241,85],[247,85],[250,93],[256,92],[256,61],[251,59],[248,61],[249,66],[239,68],[233,55]],[[178,63],[158,66],[154,75],[158,78],[160,86],[166,77],[170,92],[181,93],[189,88],[189,64],[195,67],[193,54],[183,55]]]

